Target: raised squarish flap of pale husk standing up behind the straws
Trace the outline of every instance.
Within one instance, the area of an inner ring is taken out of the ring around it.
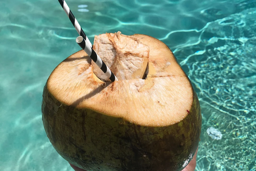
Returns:
[[[118,80],[138,79],[145,75],[149,47],[138,39],[121,32],[106,33],[95,36],[93,48]],[[98,78],[109,81],[94,61],[92,68]]]

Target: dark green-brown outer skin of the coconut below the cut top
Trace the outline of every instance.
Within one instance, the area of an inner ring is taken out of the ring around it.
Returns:
[[[180,171],[192,160],[201,133],[201,110],[193,89],[193,105],[179,123],[150,127],[90,109],[67,106],[47,88],[42,118],[55,150],[85,170]]]

